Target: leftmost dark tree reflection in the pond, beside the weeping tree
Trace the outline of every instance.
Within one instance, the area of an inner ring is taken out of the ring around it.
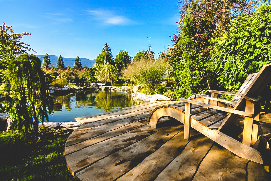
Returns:
[[[52,96],[53,98],[53,110],[54,111],[61,111],[63,105],[65,106],[65,109],[71,109],[70,108],[70,95],[65,96]]]

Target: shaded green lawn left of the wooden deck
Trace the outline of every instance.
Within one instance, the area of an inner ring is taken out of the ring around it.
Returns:
[[[20,139],[18,132],[0,133],[0,180],[75,181],[62,153],[66,137],[56,130],[54,134],[45,131],[40,141],[33,142]]]

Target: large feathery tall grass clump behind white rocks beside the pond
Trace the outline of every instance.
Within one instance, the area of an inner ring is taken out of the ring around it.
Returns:
[[[169,63],[164,59],[157,59],[155,61],[141,59],[124,71],[124,77],[129,80],[130,84],[141,85],[143,93],[150,94],[159,87],[168,67]]]

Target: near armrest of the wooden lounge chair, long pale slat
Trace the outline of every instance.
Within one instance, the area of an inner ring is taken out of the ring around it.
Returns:
[[[192,100],[188,100],[188,99],[183,99],[183,98],[180,98],[180,101],[188,102],[188,103],[191,103],[191,104],[196,104],[196,105],[203,106],[203,107],[208,107],[208,108],[211,108],[211,109],[217,109],[217,110],[220,110],[220,111],[229,112],[229,113],[232,113],[232,114],[238,114],[238,115],[241,115],[241,116],[253,117],[253,113],[249,113],[249,112],[245,112],[245,111],[238,111],[238,110],[229,109],[229,108],[225,108],[225,107],[214,106],[214,105],[205,104],[205,103],[192,101]]]

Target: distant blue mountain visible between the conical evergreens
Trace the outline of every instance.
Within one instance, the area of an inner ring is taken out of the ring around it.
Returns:
[[[41,64],[42,64],[44,55],[36,55],[36,56],[40,59]],[[57,63],[57,60],[58,60],[58,56],[56,56],[56,55],[49,55],[49,57],[50,57],[50,60],[51,60],[51,64],[53,64],[54,67],[57,67],[56,63]],[[65,67],[68,67],[68,65],[70,67],[73,67],[75,58],[65,58],[65,57],[62,57],[62,58],[63,58],[63,62],[64,62]],[[80,62],[82,64],[82,67],[87,66],[88,68],[89,67],[92,68],[92,66],[95,63],[95,59],[94,60],[90,60],[90,59],[86,59],[86,58],[80,58]]]

